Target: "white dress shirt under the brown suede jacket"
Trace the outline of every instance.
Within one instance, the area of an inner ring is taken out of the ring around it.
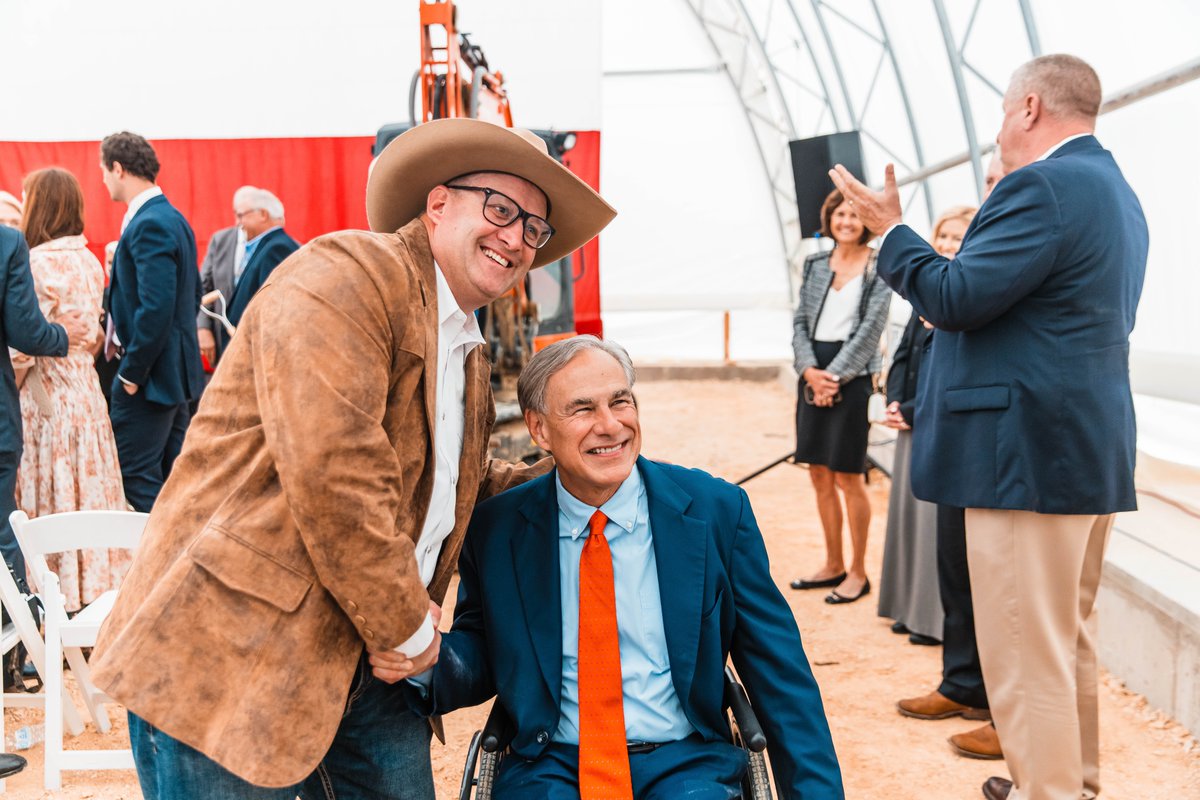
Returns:
[[[458,462],[462,459],[463,422],[467,413],[466,375],[467,354],[484,343],[475,314],[458,307],[450,284],[436,263],[438,281],[438,362],[437,395],[433,420],[433,492],[425,515],[421,536],[416,540],[416,569],[425,585],[433,579],[433,571],[442,554],[442,543],[455,525],[455,503],[458,494]],[[433,642],[433,618],[425,621],[396,650],[407,656],[422,652]]]

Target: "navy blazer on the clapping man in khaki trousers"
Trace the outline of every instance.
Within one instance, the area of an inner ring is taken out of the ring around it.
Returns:
[[[1129,332],[1148,234],[1094,137],[1006,176],[953,260],[895,228],[878,272],[937,329],[912,488],[967,509],[1136,507]]]

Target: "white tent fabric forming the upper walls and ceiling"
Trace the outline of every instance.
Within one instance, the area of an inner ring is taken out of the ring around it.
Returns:
[[[733,359],[791,357],[796,276],[790,281],[760,143],[734,91],[734,78],[754,65],[714,48],[706,16],[739,10],[780,71],[755,78],[781,88],[796,134],[834,131],[836,113],[842,127],[871,134],[866,169],[876,176],[888,154],[916,166],[917,139],[926,164],[967,148],[938,7],[972,70],[965,85],[979,143],[998,125],[995,88],[1031,54],[1022,0],[457,5],[461,28],[508,77],[520,125],[602,131],[601,188],[620,211],[601,239],[604,317],[610,336],[640,359],[720,359],[726,311]],[[1200,50],[1200,6],[1187,0],[1024,5],[1042,50],[1084,56],[1108,92]],[[818,13],[828,42],[815,32]],[[119,128],[161,138],[370,136],[407,116],[419,59],[416,0],[346,0],[336,10],[301,0],[286,14],[233,0],[169,10],[151,0],[0,0],[0,18],[12,34],[6,62],[25,76],[6,86],[0,139],[95,139]],[[884,26],[895,68],[871,38]],[[829,100],[814,95],[822,74]],[[1134,348],[1198,355],[1200,338],[1184,320],[1200,296],[1192,269],[1200,82],[1102,118],[1098,133],[1150,219]],[[928,191],[935,212],[977,199],[968,164],[934,176]],[[924,194],[910,199],[908,218],[928,230]]]

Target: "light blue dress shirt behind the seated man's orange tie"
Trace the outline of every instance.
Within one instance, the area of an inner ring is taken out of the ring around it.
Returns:
[[[563,603],[563,690],[554,741],[580,741],[580,557],[589,535],[593,506],[563,488],[558,492],[558,573]],[[608,517],[605,537],[612,553],[620,646],[625,738],[676,741],[695,732],[671,682],[659,573],[642,476],[635,468],[617,493],[600,506]],[[527,576],[526,579],[536,579]]]

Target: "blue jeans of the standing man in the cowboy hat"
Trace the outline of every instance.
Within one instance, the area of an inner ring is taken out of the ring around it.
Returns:
[[[130,714],[130,742],[145,800],[433,800],[430,723],[403,684],[371,675],[366,658],[342,724],[316,771],[280,789],[241,780],[204,753]],[[286,732],[281,732],[286,735]]]

